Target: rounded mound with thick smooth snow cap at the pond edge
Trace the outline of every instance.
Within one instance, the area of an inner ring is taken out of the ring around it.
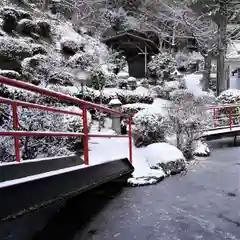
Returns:
[[[186,169],[183,153],[168,143],[153,143],[146,147],[146,159],[150,168],[162,169],[166,175],[174,175]]]

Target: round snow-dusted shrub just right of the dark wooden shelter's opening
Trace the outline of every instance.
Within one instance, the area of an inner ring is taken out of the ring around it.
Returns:
[[[169,53],[159,53],[152,57],[148,64],[150,72],[157,77],[164,77],[163,72],[173,72],[176,68],[176,60]]]

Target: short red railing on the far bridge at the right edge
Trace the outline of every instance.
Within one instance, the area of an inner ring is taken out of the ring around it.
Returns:
[[[225,104],[206,107],[212,116],[212,129],[240,126],[240,105]]]

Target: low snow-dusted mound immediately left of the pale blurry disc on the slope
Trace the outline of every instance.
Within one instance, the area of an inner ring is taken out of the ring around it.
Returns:
[[[54,72],[48,79],[49,84],[73,86],[74,77],[68,72]]]

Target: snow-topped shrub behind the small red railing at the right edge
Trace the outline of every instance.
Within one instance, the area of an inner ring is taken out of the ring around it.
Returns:
[[[219,105],[224,104],[235,104],[240,105],[240,90],[238,89],[228,89],[226,91],[223,91],[218,97],[217,97],[217,103]],[[220,108],[217,110],[217,125],[218,126],[226,126],[229,125],[229,114],[232,114],[232,121],[233,124],[239,124],[240,123],[240,107],[233,107],[233,108]]]

